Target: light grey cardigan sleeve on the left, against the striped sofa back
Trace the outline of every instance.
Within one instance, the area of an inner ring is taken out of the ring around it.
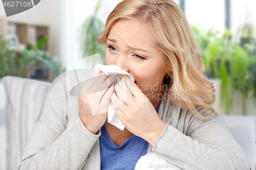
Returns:
[[[66,115],[68,105],[72,104],[68,104],[65,78],[55,80],[18,169],[82,169],[101,131],[96,134],[88,131],[78,112],[74,116]]]

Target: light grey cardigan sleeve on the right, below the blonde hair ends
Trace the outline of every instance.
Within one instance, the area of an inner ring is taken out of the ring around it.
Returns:
[[[193,123],[188,136],[167,123],[152,151],[182,169],[250,169],[242,148],[220,115],[207,120],[191,116],[190,121]]]

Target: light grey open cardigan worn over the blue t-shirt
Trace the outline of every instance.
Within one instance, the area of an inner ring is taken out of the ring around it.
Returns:
[[[88,74],[92,77],[93,71]],[[165,88],[164,94],[167,92]],[[66,75],[62,74],[48,90],[19,169],[100,169],[101,130],[96,134],[88,131],[78,111],[78,97],[69,94]],[[208,115],[202,108],[198,111]],[[165,97],[158,115],[167,125],[154,147],[148,145],[147,153],[158,152],[182,169],[250,169],[242,148],[219,114],[200,120]]]

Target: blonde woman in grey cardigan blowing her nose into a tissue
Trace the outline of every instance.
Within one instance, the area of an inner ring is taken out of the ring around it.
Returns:
[[[175,2],[124,0],[97,40],[106,45],[106,65],[115,64],[134,77],[133,83],[123,76],[132,95],[113,86],[115,77],[101,71],[91,74],[77,99],[69,95],[65,75],[59,76],[19,169],[134,169],[150,152],[182,169],[250,169],[212,109],[214,86],[203,75],[200,47]],[[108,89],[102,90],[105,84]],[[126,98],[125,104],[115,91]],[[83,95],[88,93],[93,97]],[[123,131],[108,123],[109,100]],[[101,114],[92,116],[91,109]]]

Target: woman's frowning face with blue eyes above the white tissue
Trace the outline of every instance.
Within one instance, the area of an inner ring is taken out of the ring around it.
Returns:
[[[166,74],[162,53],[155,48],[151,34],[136,19],[118,20],[108,34],[105,52],[106,65],[114,64],[129,72],[148,99],[152,91],[162,93],[159,87]]]

